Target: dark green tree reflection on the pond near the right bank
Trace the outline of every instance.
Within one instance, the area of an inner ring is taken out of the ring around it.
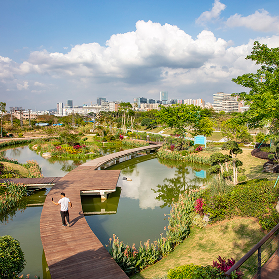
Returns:
[[[165,207],[166,205],[170,206],[173,198],[175,201],[177,201],[179,195],[184,193],[187,189],[196,189],[206,181],[206,179],[198,177],[194,177],[193,179],[189,178],[192,169],[199,171],[201,169],[207,168],[205,166],[201,167],[200,164],[186,164],[179,161],[163,160],[159,158],[158,161],[160,164],[163,164],[167,167],[177,168],[174,178],[166,178],[164,179],[164,185],[158,184],[156,186],[156,190],[152,189],[154,193],[158,193],[156,199],[164,201],[164,204],[160,205],[161,208]]]

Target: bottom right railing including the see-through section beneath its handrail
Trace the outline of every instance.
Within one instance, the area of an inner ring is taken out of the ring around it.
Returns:
[[[235,263],[226,273],[227,278],[236,269],[243,272],[243,279],[261,279],[263,265],[270,257],[279,256],[279,224],[277,224],[265,237],[263,237],[246,255]],[[276,251],[276,253],[274,253]],[[255,275],[256,274],[256,275]],[[266,278],[266,277],[265,277]],[[267,277],[268,278],[268,277]]]

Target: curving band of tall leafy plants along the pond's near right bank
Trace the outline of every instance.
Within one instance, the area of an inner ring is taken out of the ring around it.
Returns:
[[[180,195],[178,202],[171,204],[168,225],[164,228],[166,237],[160,234],[158,240],[150,243],[149,239],[138,249],[135,245],[126,245],[116,235],[106,245],[109,253],[128,275],[140,272],[167,256],[176,245],[179,245],[189,234],[192,225],[191,214],[195,210],[195,202],[200,197],[198,190],[186,191]]]

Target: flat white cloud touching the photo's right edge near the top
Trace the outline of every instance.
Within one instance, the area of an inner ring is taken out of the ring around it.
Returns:
[[[279,31],[279,17],[271,16],[264,9],[249,16],[234,14],[228,18],[226,23],[229,27],[247,27],[254,31]]]

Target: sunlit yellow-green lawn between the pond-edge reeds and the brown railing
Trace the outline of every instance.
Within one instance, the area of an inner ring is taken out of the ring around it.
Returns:
[[[190,236],[175,251],[131,278],[152,278],[184,264],[212,264],[219,255],[238,261],[264,235],[254,218],[234,218],[203,229],[192,228]]]

